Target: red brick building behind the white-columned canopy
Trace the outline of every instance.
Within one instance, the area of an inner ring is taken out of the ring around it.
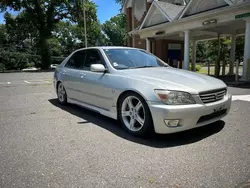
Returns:
[[[183,9],[185,0],[162,0],[162,2],[172,3]],[[124,12],[127,16],[127,29],[129,31],[128,46],[146,49],[146,39],[141,39],[138,30],[142,25],[149,9],[153,9],[152,0],[128,0],[124,2]],[[156,18],[157,19],[157,18]],[[175,67],[181,67],[183,61],[183,40],[157,39],[151,38],[150,52],[160,57],[165,62]]]

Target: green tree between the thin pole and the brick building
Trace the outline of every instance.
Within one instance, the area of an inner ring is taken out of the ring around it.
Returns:
[[[123,46],[127,41],[126,18],[118,14],[102,25],[102,30],[109,39],[109,44]]]

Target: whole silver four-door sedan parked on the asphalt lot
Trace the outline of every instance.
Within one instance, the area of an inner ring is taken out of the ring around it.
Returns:
[[[219,121],[228,114],[232,98],[221,80],[172,68],[129,47],[74,51],[56,68],[54,87],[62,105],[73,103],[119,120],[135,136]]]

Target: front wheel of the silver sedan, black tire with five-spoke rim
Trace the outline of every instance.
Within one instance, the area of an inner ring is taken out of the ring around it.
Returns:
[[[123,128],[134,136],[148,137],[154,133],[151,112],[137,93],[124,94],[118,103],[118,116]]]

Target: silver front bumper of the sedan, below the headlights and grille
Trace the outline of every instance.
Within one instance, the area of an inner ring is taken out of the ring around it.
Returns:
[[[201,127],[220,120],[229,113],[231,100],[232,96],[227,94],[223,100],[210,104],[177,106],[148,101],[148,106],[152,114],[155,132],[159,134],[168,134]],[[214,113],[215,109],[220,108],[223,108],[226,112],[216,117],[210,115]],[[200,121],[200,118],[203,116],[206,116],[206,118]],[[179,120],[179,124],[176,127],[168,127],[164,120]]]

